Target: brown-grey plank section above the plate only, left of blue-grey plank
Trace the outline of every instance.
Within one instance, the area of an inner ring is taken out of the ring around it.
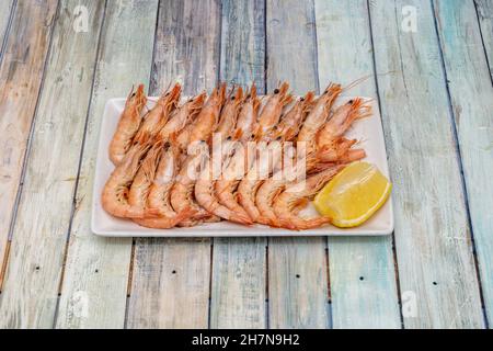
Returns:
[[[211,90],[219,75],[219,0],[162,0],[157,27],[151,88],[176,80],[184,94]]]

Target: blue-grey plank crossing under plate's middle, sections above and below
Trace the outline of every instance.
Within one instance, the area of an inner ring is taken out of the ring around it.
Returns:
[[[263,93],[265,63],[263,0],[222,2],[220,80]],[[214,240],[211,328],[266,327],[265,238]]]

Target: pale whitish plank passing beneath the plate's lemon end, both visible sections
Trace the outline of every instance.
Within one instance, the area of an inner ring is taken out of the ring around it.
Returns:
[[[367,1],[316,0],[314,4],[320,87],[372,76]],[[346,94],[377,99],[375,80]],[[400,328],[391,236],[329,238],[329,278],[333,328]]]

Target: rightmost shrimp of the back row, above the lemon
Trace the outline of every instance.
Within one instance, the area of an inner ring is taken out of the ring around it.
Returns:
[[[349,126],[359,118],[371,115],[371,105],[360,98],[349,100],[335,110],[328,123],[317,133],[318,148],[325,148],[342,137]]]

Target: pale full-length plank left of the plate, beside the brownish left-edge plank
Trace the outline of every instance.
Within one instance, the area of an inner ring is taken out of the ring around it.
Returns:
[[[1,295],[0,322],[10,327],[49,328],[55,318],[98,46],[98,35],[72,29],[77,3],[88,8],[90,31],[101,27],[104,3],[61,3]]]

